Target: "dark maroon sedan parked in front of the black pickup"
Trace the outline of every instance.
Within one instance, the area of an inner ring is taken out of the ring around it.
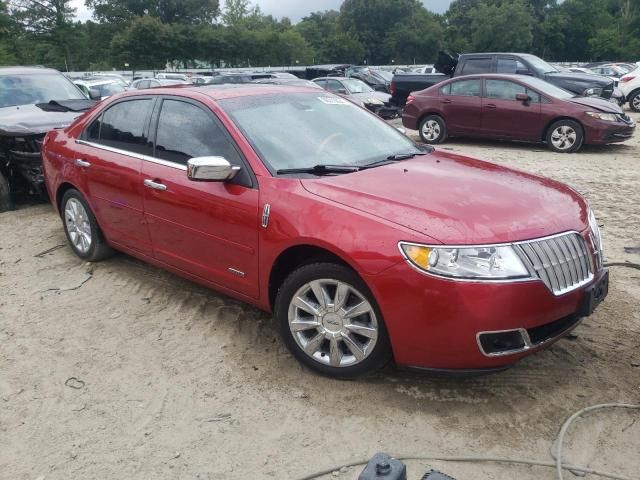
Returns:
[[[469,75],[415,92],[402,122],[429,144],[448,136],[485,137],[544,142],[561,153],[623,142],[635,130],[614,103],[521,75]]]

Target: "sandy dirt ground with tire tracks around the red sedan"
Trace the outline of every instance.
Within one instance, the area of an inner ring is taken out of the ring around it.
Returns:
[[[640,247],[639,138],[575,155],[443,148],[569,183],[599,215],[607,261],[640,263],[625,252]],[[339,382],[303,369],[266,314],[125,255],[83,263],[49,206],[24,205],[0,214],[0,478],[296,479],[377,451],[550,460],[573,411],[640,401],[640,271],[611,274],[608,300],[575,336],[504,373],[451,379],[390,366]],[[637,478],[638,417],[580,420],[566,457]],[[458,480],[555,478],[409,462],[410,480],[431,467]]]

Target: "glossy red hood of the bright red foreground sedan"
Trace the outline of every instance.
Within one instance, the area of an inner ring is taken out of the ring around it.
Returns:
[[[529,240],[588,224],[586,202],[568,186],[444,152],[301,182],[314,195],[447,245]]]

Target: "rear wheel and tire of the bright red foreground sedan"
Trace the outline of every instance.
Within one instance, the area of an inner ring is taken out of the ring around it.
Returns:
[[[73,252],[83,260],[99,262],[113,255],[89,204],[77,190],[67,190],[61,202],[64,232]]]

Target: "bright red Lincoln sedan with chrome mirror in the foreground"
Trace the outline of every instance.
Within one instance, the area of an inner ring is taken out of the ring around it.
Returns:
[[[504,368],[607,294],[575,191],[417,146],[328,92],[129,92],[50,132],[43,159],[80,258],[118,250],[272,311],[327,375]]]

